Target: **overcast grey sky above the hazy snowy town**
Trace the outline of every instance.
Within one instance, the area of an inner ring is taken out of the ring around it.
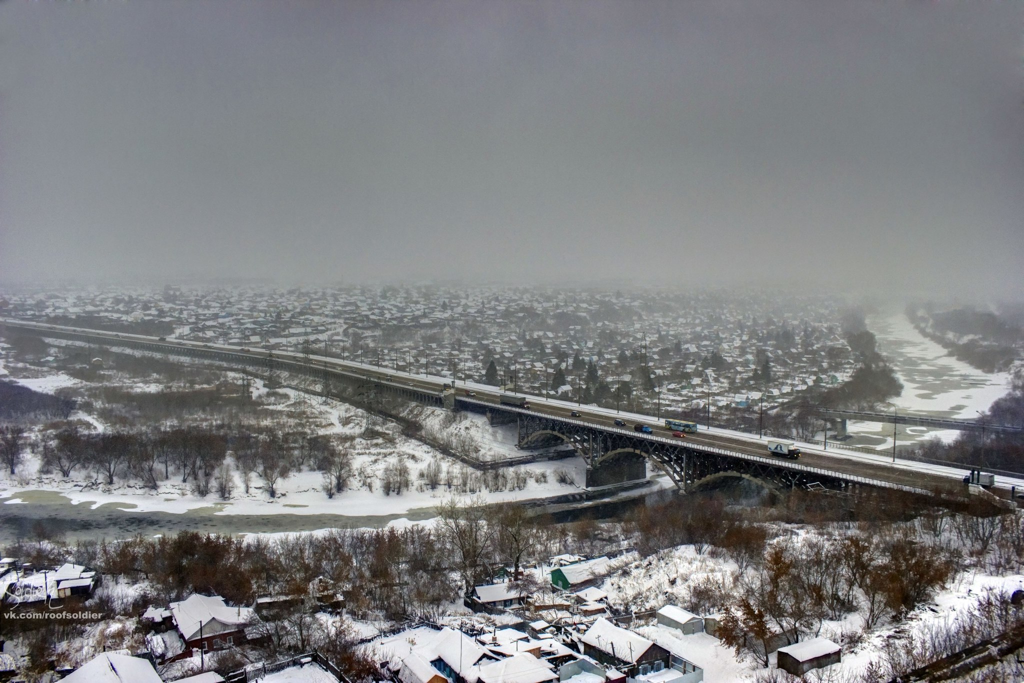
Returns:
[[[0,4],[0,280],[1024,296],[1024,3]]]

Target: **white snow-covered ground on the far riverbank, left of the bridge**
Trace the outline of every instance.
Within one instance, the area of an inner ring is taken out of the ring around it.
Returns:
[[[41,376],[15,378],[14,381],[49,393],[83,384],[62,373],[34,374]],[[153,381],[138,381],[126,388],[132,391],[153,391],[162,388],[162,385]],[[252,391],[257,399],[267,394],[259,381],[253,384]],[[431,508],[457,490],[460,495],[468,493],[479,496],[487,502],[504,502],[578,492],[585,481],[584,462],[580,458],[567,458],[505,468],[501,475],[505,483],[492,481],[488,486],[486,473],[478,473],[422,441],[402,435],[400,427],[394,422],[376,420],[374,426],[380,435],[364,438],[366,412],[340,401],[323,402],[319,396],[291,388],[278,389],[275,392],[281,397],[269,407],[270,410],[284,414],[306,411],[309,415],[308,424],[315,426],[317,433],[337,434],[353,439],[352,466],[356,476],[350,481],[349,488],[329,499],[323,489],[322,473],[305,470],[285,478],[278,486],[279,495],[270,499],[256,475],[250,477],[249,493],[246,494],[241,475],[234,471],[234,490],[229,500],[223,501],[213,494],[207,497],[197,496],[191,484],[182,484],[180,478],[175,478],[173,474],[155,492],[123,477],[119,477],[114,485],[102,484],[81,469],[73,472],[69,479],[63,479],[56,472],[41,474],[39,457],[27,454],[16,475],[5,475],[0,479],[0,499],[9,499],[5,502],[14,503],[18,500],[18,495],[44,490],[58,493],[74,505],[84,504],[98,508],[114,503],[120,509],[131,512],[183,513],[212,507],[216,515],[287,513],[368,517],[406,515],[413,510]],[[424,432],[428,435],[436,438],[461,438],[464,443],[478,449],[483,459],[500,460],[525,455],[515,447],[514,427],[492,427],[483,416],[460,414],[453,420],[451,413],[440,409],[421,408],[417,409],[415,417],[423,424]],[[101,420],[81,411],[76,412],[73,419],[91,424],[97,432],[105,429]],[[441,464],[445,473],[451,473],[452,480],[457,484],[468,477],[470,490],[454,489],[443,482],[430,488],[418,479],[420,471],[435,460]],[[412,487],[400,495],[388,495],[382,490],[380,477],[389,465],[396,462],[402,462],[409,467]]]

